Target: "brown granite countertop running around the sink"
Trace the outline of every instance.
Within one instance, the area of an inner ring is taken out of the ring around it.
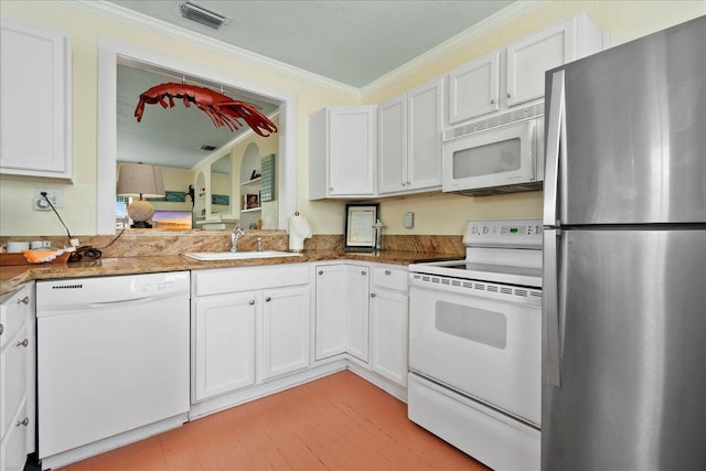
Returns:
[[[208,268],[253,267],[261,265],[299,264],[325,260],[361,260],[381,264],[409,265],[420,261],[452,260],[458,255],[419,251],[381,250],[353,253],[343,250],[304,250],[301,256],[250,258],[240,260],[197,261],[183,255],[103,258],[66,265],[23,265],[0,267],[0,295],[13,291],[26,281],[100,277],[110,275],[152,274],[160,271],[199,270]]]

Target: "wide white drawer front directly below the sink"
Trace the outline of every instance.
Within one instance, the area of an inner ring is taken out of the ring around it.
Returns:
[[[195,296],[308,285],[309,266],[292,264],[194,271],[194,283]]]

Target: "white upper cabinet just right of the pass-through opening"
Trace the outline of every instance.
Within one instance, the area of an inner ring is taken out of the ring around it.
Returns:
[[[375,195],[376,111],[340,106],[309,118],[309,200]]]

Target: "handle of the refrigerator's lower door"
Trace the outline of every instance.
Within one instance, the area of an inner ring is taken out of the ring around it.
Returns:
[[[544,231],[544,280],[542,282],[542,300],[544,302],[544,329],[546,339],[547,383],[561,386],[561,349],[559,334],[559,296],[558,296],[558,229]]]

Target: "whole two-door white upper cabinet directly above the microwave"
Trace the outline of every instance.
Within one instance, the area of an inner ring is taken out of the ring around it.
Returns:
[[[554,23],[448,74],[448,127],[544,97],[545,72],[601,50],[585,13]]]

